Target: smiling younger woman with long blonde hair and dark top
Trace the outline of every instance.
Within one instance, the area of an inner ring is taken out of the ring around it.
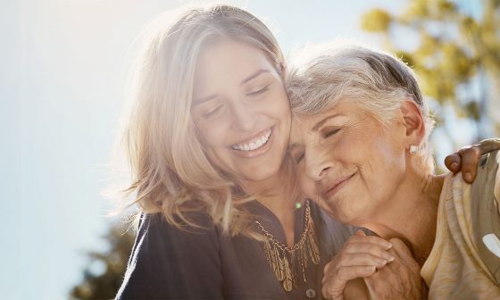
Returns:
[[[125,145],[142,214],[117,298],[321,298],[354,229],[298,190],[278,43],[232,6],[168,21],[137,60]]]

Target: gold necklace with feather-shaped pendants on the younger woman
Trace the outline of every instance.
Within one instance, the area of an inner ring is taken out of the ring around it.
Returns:
[[[282,281],[283,288],[289,292],[292,287],[297,287],[298,268],[300,268],[304,282],[306,282],[305,270],[307,269],[309,257],[314,264],[320,262],[320,250],[314,236],[309,200],[305,201],[304,232],[302,232],[299,241],[294,246],[288,247],[280,243],[269,231],[262,227],[259,221],[255,221],[255,223],[261,229],[262,235],[266,237],[263,242],[264,253],[276,278]]]

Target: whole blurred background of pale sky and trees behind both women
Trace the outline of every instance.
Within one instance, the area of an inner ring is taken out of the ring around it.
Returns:
[[[111,298],[132,233],[100,192],[118,127],[130,47],[175,0],[0,4],[2,299]],[[232,1],[284,52],[348,37],[396,53],[420,76],[446,154],[500,134],[500,1]]]

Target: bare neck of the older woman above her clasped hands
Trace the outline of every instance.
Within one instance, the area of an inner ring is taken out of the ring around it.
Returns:
[[[407,176],[387,205],[380,207],[375,217],[362,226],[385,239],[402,239],[422,265],[436,238],[437,205],[443,181],[444,176]]]

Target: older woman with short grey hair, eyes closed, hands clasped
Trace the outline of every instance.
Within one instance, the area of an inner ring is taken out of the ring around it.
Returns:
[[[373,297],[381,280],[399,278],[412,282],[406,297],[421,298],[421,268],[430,298],[500,298],[498,152],[481,160],[472,185],[435,175],[432,120],[412,70],[362,46],[306,60],[288,88],[290,151],[306,194],[393,244],[352,237],[325,268],[324,296]]]

